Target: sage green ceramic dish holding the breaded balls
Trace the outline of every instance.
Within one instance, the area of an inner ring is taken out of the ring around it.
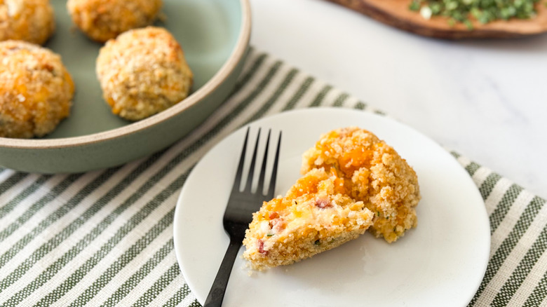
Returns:
[[[250,38],[248,0],[164,0],[166,27],[194,71],[191,95],[136,123],[113,115],[95,76],[100,43],[69,18],[66,1],[51,1],[57,30],[46,47],[59,53],[72,74],[72,114],[43,139],[0,137],[0,165],[25,172],[85,172],[149,155],[191,132],[229,95]]]

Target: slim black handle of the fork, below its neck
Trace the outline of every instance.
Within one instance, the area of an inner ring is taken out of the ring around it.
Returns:
[[[220,268],[218,269],[217,277],[215,277],[215,281],[212,282],[211,290],[207,299],[205,299],[203,307],[222,306],[222,300],[224,299],[224,292],[226,292],[228,279],[230,278],[231,268],[234,266],[234,261],[236,261],[236,256],[238,255],[241,244],[241,240],[230,240],[228,250],[226,251],[226,254],[224,254],[224,259],[222,259],[222,264],[220,264]]]

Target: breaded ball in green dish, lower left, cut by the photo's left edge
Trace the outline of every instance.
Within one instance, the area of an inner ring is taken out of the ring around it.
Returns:
[[[69,116],[74,83],[61,57],[32,43],[0,42],[0,137],[41,137]]]

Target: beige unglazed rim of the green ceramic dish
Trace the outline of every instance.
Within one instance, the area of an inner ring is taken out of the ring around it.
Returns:
[[[155,114],[154,116],[112,130],[79,137],[63,137],[60,139],[11,139],[8,137],[0,137],[0,142],[2,143],[0,147],[14,149],[51,149],[93,144],[145,130],[157,123],[161,123],[168,118],[182,113],[184,110],[203,100],[209,93],[220,86],[228,78],[229,74],[234,71],[236,65],[245,55],[245,50],[247,50],[248,42],[250,40],[251,30],[250,4],[249,0],[239,0],[239,2],[241,4],[242,16],[241,32],[239,33],[234,50],[228,57],[228,60],[220,67],[219,71],[217,71],[205,85],[196,90],[195,93],[192,93],[192,95],[189,95],[186,99],[182,100],[182,102],[179,102],[173,107]]]

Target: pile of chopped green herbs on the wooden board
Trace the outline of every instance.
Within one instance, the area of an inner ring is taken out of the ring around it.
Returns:
[[[461,22],[473,29],[471,20],[487,24],[511,18],[530,19],[536,16],[535,5],[540,0],[411,0],[409,9],[419,11],[424,18],[447,17],[450,26]],[[547,2],[543,3],[547,6]],[[431,15],[429,13],[431,12]]]

